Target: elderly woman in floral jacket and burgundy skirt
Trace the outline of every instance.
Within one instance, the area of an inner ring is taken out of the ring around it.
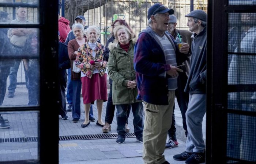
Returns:
[[[100,31],[96,26],[90,26],[86,29],[87,42],[82,44],[76,55],[76,66],[81,69],[82,95],[85,105],[85,120],[82,128],[90,124],[89,111],[90,104],[97,100],[98,121],[97,125],[103,127],[101,120],[103,101],[107,101],[107,62],[103,60],[103,51],[105,47],[96,42]]]

